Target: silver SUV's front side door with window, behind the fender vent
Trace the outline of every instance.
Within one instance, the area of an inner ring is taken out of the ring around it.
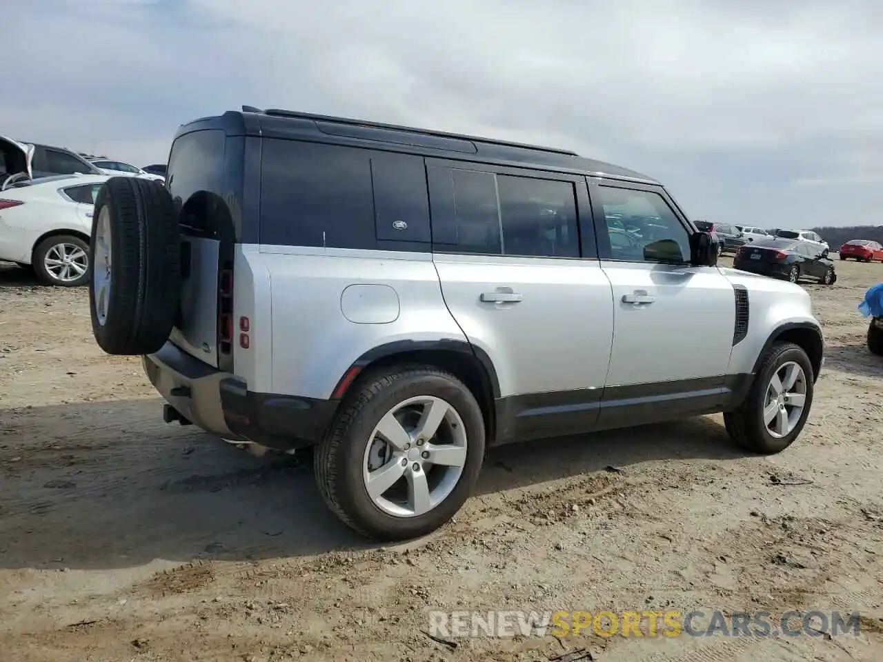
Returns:
[[[638,423],[641,402],[670,402],[683,411],[716,402],[734,337],[733,286],[717,267],[691,266],[692,229],[660,186],[593,180],[590,193],[600,265],[615,306],[600,421],[622,423],[617,417],[629,412]],[[623,242],[613,242],[608,214],[627,214],[653,231],[636,233],[627,248],[618,247]],[[669,259],[651,244],[668,246]]]

